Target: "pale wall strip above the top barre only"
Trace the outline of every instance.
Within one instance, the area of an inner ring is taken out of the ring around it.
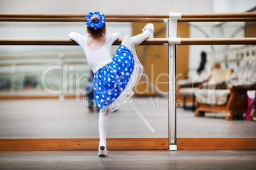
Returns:
[[[168,13],[211,12],[205,4],[212,0],[1,0],[1,12],[22,13]]]

